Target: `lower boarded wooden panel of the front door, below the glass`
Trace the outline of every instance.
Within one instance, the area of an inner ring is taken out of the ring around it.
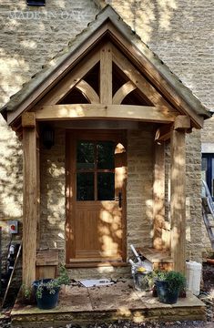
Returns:
[[[122,224],[117,202],[76,205],[75,235],[77,258],[121,260]]]

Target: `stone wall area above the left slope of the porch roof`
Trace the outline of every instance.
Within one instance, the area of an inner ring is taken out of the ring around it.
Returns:
[[[9,5],[11,4],[11,5]],[[25,0],[0,5],[1,26],[0,104],[15,94],[43,65],[66,47],[87,23],[97,7],[90,2],[55,0],[46,6],[27,6]]]

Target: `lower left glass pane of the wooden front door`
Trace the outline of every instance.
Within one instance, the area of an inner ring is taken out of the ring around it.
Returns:
[[[95,200],[94,173],[76,173],[76,200]]]

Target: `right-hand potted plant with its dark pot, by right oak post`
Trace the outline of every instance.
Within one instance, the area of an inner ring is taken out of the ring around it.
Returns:
[[[155,284],[159,302],[174,304],[178,302],[179,292],[186,287],[186,278],[180,272],[158,272]]]

